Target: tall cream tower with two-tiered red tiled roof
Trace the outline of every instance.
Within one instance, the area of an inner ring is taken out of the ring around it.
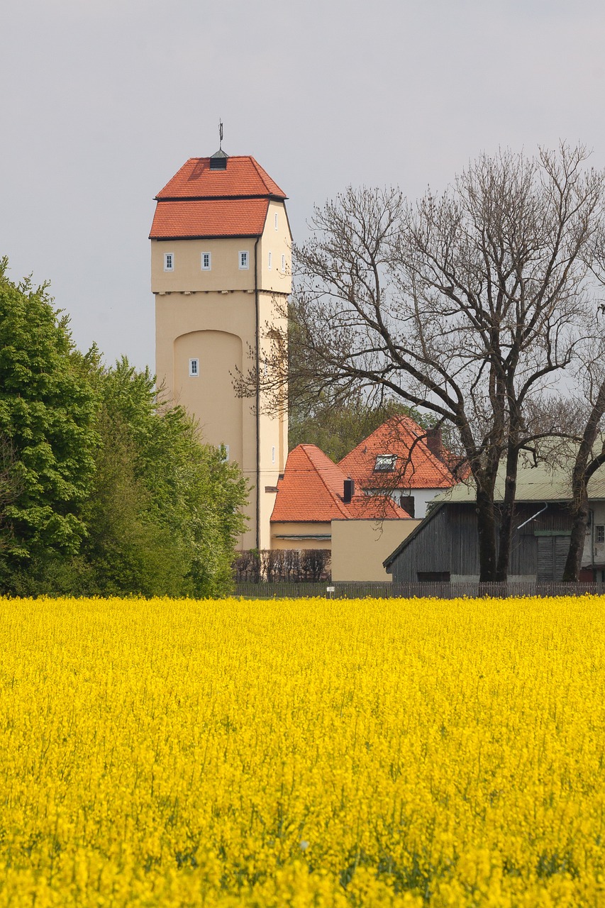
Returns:
[[[166,394],[198,420],[203,439],[236,461],[251,492],[243,549],[270,548],[270,517],[288,453],[285,414],[233,388],[258,370],[285,327],[292,234],[286,195],[252,155],[190,158],[155,196],[152,291],[155,370]]]

